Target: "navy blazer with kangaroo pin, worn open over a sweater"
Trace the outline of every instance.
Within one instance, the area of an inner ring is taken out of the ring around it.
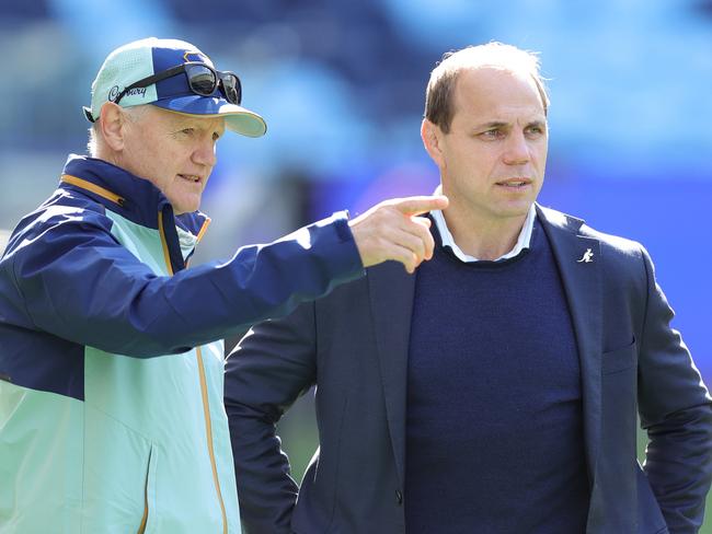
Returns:
[[[694,533],[712,477],[712,406],[669,326],[673,311],[651,259],[638,243],[537,211],[581,358],[586,532]],[[588,249],[592,260],[579,262]],[[414,279],[393,262],[370,268],[290,316],[255,326],[228,359],[226,408],[249,534],[405,532]],[[298,488],[275,423],[314,384],[320,448]],[[638,416],[650,440],[644,467]]]

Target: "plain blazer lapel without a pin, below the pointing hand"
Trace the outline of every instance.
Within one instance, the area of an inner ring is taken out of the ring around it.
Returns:
[[[409,276],[395,262],[369,269],[367,276],[388,428],[402,485],[405,479],[407,349],[415,276]]]

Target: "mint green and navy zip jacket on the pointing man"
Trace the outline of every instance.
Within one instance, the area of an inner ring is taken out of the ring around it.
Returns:
[[[221,339],[363,267],[336,214],[186,269],[179,232],[197,241],[208,222],[70,156],[14,230],[0,260],[0,532],[240,533]]]

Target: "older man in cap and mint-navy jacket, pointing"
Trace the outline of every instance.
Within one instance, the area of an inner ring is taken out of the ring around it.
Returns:
[[[186,269],[217,140],[265,132],[240,103],[237,76],[181,40],[128,44],[99,71],[92,156],[69,158],[0,262],[0,531],[239,533],[219,339],[430,257],[413,216],[445,198]]]

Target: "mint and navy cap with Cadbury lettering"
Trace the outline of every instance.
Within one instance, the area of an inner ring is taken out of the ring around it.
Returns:
[[[202,62],[213,69],[210,58],[190,43],[177,39],[149,37],[135,40],[112,51],[96,79],[92,83],[91,108],[84,107],[90,121],[101,115],[106,102],[114,102],[126,88],[159,74],[182,63]],[[196,94],[188,84],[185,73],[157,81],[145,88],[134,88],[124,92],[118,105],[122,107],[152,104],[171,112],[206,117],[225,117],[226,127],[248,137],[260,137],[267,130],[264,119],[241,105],[228,102],[216,83],[211,95]]]

